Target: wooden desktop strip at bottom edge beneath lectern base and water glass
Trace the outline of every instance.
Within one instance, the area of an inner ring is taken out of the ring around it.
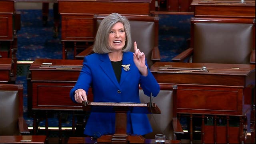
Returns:
[[[94,144],[96,140],[89,137],[70,137],[68,144]],[[155,140],[145,139],[145,144],[154,144]],[[180,140],[166,140],[165,144],[180,144]]]

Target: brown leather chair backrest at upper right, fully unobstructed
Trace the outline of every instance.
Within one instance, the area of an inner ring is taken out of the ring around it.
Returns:
[[[191,18],[193,63],[250,64],[255,19]]]

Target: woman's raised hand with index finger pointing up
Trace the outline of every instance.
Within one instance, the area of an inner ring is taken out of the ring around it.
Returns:
[[[136,65],[136,67],[138,67],[140,73],[143,76],[147,76],[148,75],[148,68],[146,66],[146,56],[143,52],[140,51],[140,49],[137,48],[136,41],[134,42],[133,61]]]

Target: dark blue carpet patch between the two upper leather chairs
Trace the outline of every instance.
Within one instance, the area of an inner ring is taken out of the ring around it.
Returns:
[[[158,47],[161,61],[172,58],[188,48],[190,18],[193,15],[159,15]]]

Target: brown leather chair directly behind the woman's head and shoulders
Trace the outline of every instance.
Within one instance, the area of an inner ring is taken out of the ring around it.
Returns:
[[[94,15],[94,36],[105,15]],[[155,61],[160,61],[158,49],[158,22],[157,16],[126,16],[130,21],[132,42],[137,42],[138,48],[146,55],[149,67]],[[131,51],[134,51],[132,48]],[[93,53],[92,46],[75,56],[75,59],[84,59],[84,56]]]

